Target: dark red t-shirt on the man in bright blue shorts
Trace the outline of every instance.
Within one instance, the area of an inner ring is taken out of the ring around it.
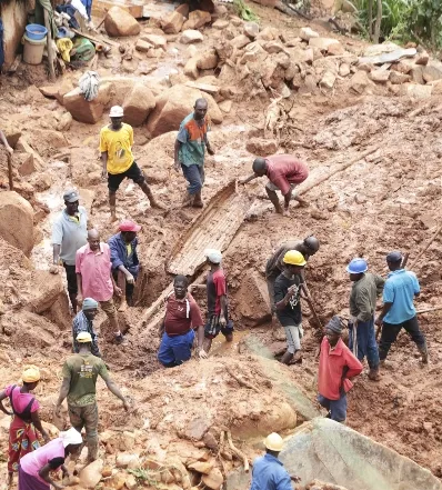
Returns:
[[[191,294],[188,293],[183,300],[177,300],[172,292],[165,300],[164,331],[168,336],[181,336],[202,324],[200,308]]]

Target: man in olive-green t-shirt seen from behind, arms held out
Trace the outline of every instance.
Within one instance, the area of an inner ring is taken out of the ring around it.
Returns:
[[[89,332],[80,332],[77,337],[79,352],[70,356],[63,366],[59,399],[56,406],[56,416],[60,417],[61,403],[68,398],[69,419],[71,424],[81,432],[86,429],[88,446],[88,463],[97,459],[98,453],[98,407],[96,398],[97,378],[100,376],[108,389],[123,402],[124,410],[129,410],[129,402],[122,396],[120,388],[111,379],[104,362],[92,356],[92,338]]]

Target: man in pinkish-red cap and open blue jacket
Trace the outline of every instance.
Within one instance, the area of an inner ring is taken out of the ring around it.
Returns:
[[[141,227],[131,220],[123,220],[119,226],[119,230],[120,232],[111,237],[108,243],[111,253],[112,273],[121,289],[121,303],[118,311],[125,311],[128,304],[133,304],[133,289],[140,271],[137,233],[141,230]]]

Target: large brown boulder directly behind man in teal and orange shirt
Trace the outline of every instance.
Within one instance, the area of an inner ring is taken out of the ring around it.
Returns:
[[[193,111],[195,100],[201,97],[208,101],[208,114],[212,122],[220,124],[223,116],[210,94],[202,93],[200,90],[184,84],[178,84],[165,90],[157,99],[155,109],[148,119],[148,130],[152,138],[178,130],[181,121]]]

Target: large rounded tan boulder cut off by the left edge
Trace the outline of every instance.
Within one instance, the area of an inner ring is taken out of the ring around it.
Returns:
[[[33,247],[33,209],[17,192],[0,192],[0,237],[27,257],[30,256]]]

